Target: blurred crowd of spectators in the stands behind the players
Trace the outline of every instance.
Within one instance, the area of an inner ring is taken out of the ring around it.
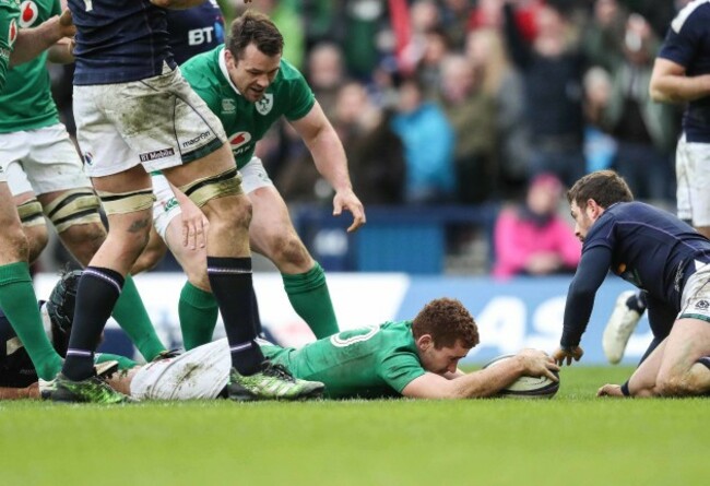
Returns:
[[[245,8],[221,1],[227,22]],[[522,201],[614,168],[674,206],[679,107],[653,103],[653,60],[684,0],[259,0],[284,35],[371,204]],[[71,67],[54,67],[70,132]],[[287,123],[257,149],[288,203],[330,203]]]

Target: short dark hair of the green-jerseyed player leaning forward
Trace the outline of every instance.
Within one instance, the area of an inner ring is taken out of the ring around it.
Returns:
[[[257,49],[270,57],[284,50],[284,37],[276,25],[263,13],[251,10],[232,22],[227,48],[236,59],[241,59],[249,44],[255,44]]]

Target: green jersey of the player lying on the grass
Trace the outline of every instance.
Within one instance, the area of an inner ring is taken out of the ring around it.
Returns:
[[[343,331],[299,349],[264,344],[264,356],[296,378],[322,381],[331,399],[401,396],[422,368],[411,321]]]

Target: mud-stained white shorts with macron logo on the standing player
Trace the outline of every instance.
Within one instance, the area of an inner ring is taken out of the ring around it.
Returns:
[[[167,64],[141,81],[74,86],[74,118],[91,177],[139,164],[149,173],[187,164],[226,140],[220,119]]]

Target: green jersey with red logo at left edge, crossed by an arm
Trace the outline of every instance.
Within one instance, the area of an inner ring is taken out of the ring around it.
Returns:
[[[0,5],[3,1],[0,0]],[[36,27],[60,13],[59,0],[26,0],[20,5],[17,25],[20,28]],[[0,31],[7,32],[2,25]],[[0,94],[0,133],[59,122],[46,62],[47,51],[44,51],[32,61],[8,71],[4,91]]]

